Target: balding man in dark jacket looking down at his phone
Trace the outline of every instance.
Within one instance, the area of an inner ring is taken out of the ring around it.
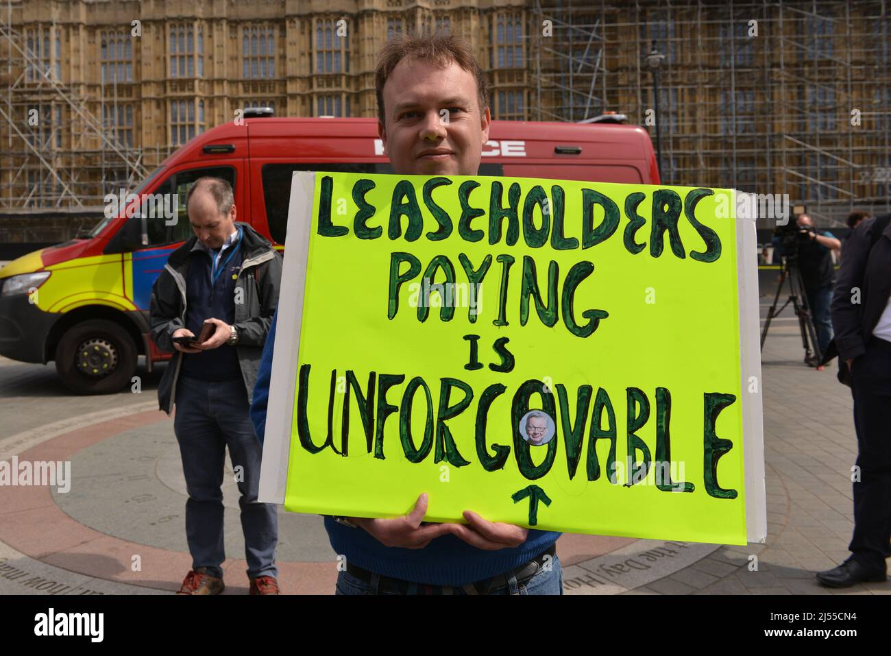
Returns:
[[[278,305],[282,256],[236,223],[232,187],[202,177],[186,196],[194,236],[168,258],[151,291],[151,339],[174,351],[158,388],[183,457],[185,529],[192,571],[177,594],[223,591],[223,483],[229,447],[241,499],[250,594],[278,594],[274,504],[257,503],[260,455],[249,406],[269,324]],[[207,340],[180,343],[200,335]],[[175,341],[175,339],[177,341]]]

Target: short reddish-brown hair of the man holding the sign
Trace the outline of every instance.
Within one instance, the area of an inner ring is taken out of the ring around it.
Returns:
[[[477,97],[480,113],[486,111],[488,98],[486,94],[486,75],[479,68],[477,58],[473,56],[470,45],[461,37],[455,37],[447,32],[439,31],[436,34],[397,34],[380,49],[378,66],[374,71],[374,88],[378,94],[378,116],[380,120],[384,115],[384,84],[390,73],[396,68],[396,64],[405,58],[416,61],[430,61],[445,68],[450,63],[458,64],[463,70],[473,74],[477,79]]]

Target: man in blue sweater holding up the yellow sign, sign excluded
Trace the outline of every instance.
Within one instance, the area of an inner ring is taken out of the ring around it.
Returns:
[[[376,71],[380,138],[396,173],[476,176],[488,140],[486,80],[457,37],[397,37]],[[275,323],[266,342],[251,416],[263,438]],[[480,494],[485,491],[480,490]],[[463,513],[466,524],[425,523],[427,494],[395,519],[325,517],[345,556],[338,594],[562,594],[560,533]]]

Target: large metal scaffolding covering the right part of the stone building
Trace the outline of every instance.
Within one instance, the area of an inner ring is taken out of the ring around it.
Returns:
[[[820,225],[891,211],[887,0],[528,4],[528,118],[616,111],[655,142],[658,110],[668,183],[788,193]]]

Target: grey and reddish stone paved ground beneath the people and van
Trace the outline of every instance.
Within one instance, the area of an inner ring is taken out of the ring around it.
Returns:
[[[794,322],[764,350],[766,545],[723,546],[565,535],[568,594],[889,594],[891,584],[830,591],[813,571],[846,558],[851,399],[835,370],[802,365]],[[159,373],[140,393],[74,397],[53,365],[0,358],[0,460],[70,460],[68,494],[0,489],[0,594],[168,594],[189,569],[184,481],[172,421],[157,411]],[[226,479],[231,481],[231,478]],[[225,485],[226,551],[241,555],[237,493]],[[286,593],[330,593],[336,554],[320,518],[280,512]],[[225,565],[227,594],[247,592]]]

